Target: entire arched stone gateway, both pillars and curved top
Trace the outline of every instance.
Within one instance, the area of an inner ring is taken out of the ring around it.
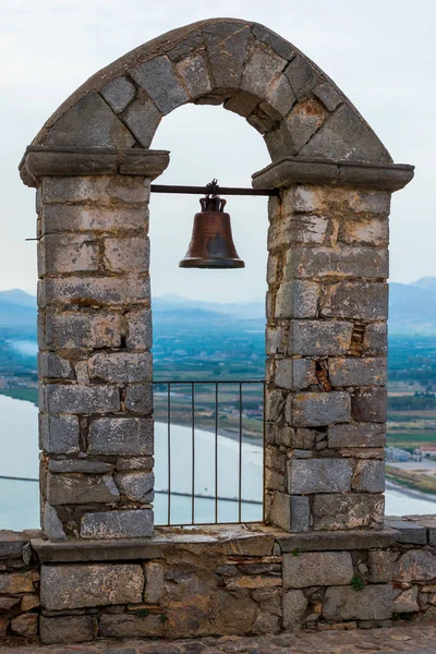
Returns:
[[[164,116],[223,105],[265,138],[269,203],[266,517],[377,529],[384,513],[388,215],[413,177],[339,88],[256,23],[170,32],[80,87],[22,160],[38,189],[43,526],[153,533],[149,149]],[[170,144],[169,144],[170,145]]]

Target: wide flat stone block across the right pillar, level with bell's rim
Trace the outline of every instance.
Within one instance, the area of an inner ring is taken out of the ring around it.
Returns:
[[[389,275],[387,250],[366,245],[337,247],[299,247],[288,250],[284,279],[294,277],[365,277]]]

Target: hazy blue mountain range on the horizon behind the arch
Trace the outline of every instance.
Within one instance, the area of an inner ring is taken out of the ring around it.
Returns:
[[[231,331],[239,326],[263,329],[264,300],[249,302],[207,302],[180,295],[153,299],[154,324],[165,331],[175,322],[202,329]],[[32,338],[36,331],[36,298],[21,289],[0,292],[0,337]],[[389,284],[389,334],[436,336],[436,277],[423,277],[412,283]]]

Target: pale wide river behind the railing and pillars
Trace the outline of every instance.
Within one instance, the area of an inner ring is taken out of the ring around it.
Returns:
[[[38,476],[37,408],[31,402],[15,400],[0,395],[0,433],[2,457],[1,476]],[[171,522],[191,521],[192,502],[192,431],[190,427],[171,425]],[[157,423],[156,448],[156,523],[162,524],[168,518],[168,431],[167,425]],[[239,444],[218,437],[218,521],[239,520]],[[210,522],[215,519],[215,435],[195,429],[195,522]],[[242,444],[241,465],[241,518],[243,521],[262,520],[262,448]],[[36,482],[0,479],[0,529],[34,529],[39,526],[39,492]],[[175,495],[174,495],[175,493]],[[201,497],[203,496],[203,497]],[[206,496],[206,497],[204,497]],[[386,491],[386,513],[407,516],[412,513],[436,513],[436,495],[405,491],[388,484]]]

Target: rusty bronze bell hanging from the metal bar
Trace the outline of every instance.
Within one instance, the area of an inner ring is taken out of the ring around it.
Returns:
[[[218,197],[216,180],[207,185],[210,191],[202,197],[202,210],[194,216],[191,243],[181,268],[245,268],[234,247],[230,215],[222,209],[226,201]]]

